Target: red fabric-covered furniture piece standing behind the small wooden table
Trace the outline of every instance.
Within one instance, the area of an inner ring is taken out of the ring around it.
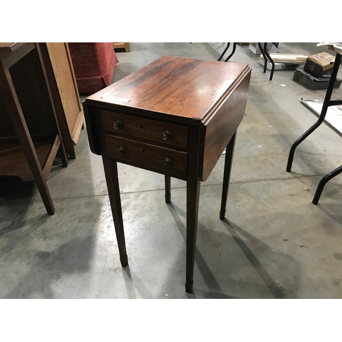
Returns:
[[[68,43],[79,93],[109,86],[118,58],[113,43]]]

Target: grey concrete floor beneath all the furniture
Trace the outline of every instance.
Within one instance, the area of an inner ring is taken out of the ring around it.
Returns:
[[[131,43],[130,53],[118,53],[113,81],[162,55],[217,60],[223,49]],[[325,50],[313,43],[279,49],[316,51]],[[122,268],[101,157],[90,152],[84,130],[77,159],[66,169],[56,164],[49,176],[55,215],[47,215],[34,185],[1,181],[0,298],[342,298],[342,175],[326,185],[319,205],[311,203],[321,177],[342,163],[342,137],[323,124],[285,172],[291,144],[317,120],[300,98],[325,92],[295,83],[293,71],[276,71],[269,81],[248,47],[238,46],[231,62],[252,67],[248,104],[228,220],[218,217],[224,157],[202,183],[194,293],[185,293],[185,182],[172,179],[166,205],[163,176],[120,164],[129,256]]]

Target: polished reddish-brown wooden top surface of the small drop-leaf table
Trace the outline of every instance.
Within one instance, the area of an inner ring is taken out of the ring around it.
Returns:
[[[249,70],[248,64],[164,56],[87,101],[203,120]]]

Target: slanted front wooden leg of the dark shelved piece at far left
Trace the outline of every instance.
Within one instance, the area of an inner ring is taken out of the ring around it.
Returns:
[[[53,207],[47,182],[45,181],[36,149],[34,148],[34,144],[31,140],[31,135],[29,134],[29,129],[27,128],[23,111],[21,110],[21,105],[18,101],[18,96],[16,96],[16,90],[10,75],[10,70],[3,69],[2,67],[0,68],[0,91],[3,94],[3,99],[5,106],[8,109],[8,113],[11,113],[10,118],[12,125],[25,153],[29,168],[31,169],[37,183],[44,206],[47,209],[47,213],[49,215],[53,215],[55,213],[55,208]]]

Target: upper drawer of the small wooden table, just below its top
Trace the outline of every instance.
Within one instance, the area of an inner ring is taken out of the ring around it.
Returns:
[[[109,131],[187,147],[186,126],[106,110],[102,111],[102,118],[103,126]]]

